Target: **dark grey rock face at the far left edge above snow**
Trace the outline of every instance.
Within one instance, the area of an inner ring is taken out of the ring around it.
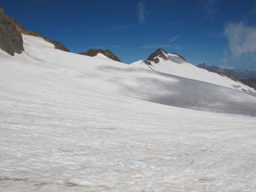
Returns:
[[[22,35],[2,8],[0,8],[0,48],[12,56],[14,53],[20,54],[24,51]]]

